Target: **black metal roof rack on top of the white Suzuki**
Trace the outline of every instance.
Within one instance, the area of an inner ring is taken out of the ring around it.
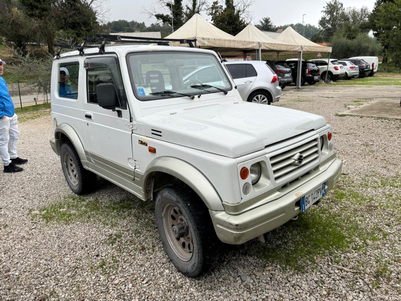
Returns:
[[[81,45],[68,45],[68,44],[53,44],[55,47],[60,47],[60,49],[55,53],[56,59],[60,58],[61,51],[63,49],[74,49],[79,50],[79,55],[84,54],[85,48],[99,48],[99,53],[105,52],[106,43],[129,43],[129,44],[154,44],[162,46],[169,46],[168,42],[180,42],[180,44],[188,44],[189,47],[194,48],[196,45],[196,39],[162,39],[162,38],[146,38],[146,37],[130,37],[122,35],[107,35],[103,33],[98,33],[95,38],[83,38],[83,43]],[[87,43],[99,45],[86,45]]]

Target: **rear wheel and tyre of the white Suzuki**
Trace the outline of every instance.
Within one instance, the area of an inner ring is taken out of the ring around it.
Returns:
[[[68,162],[66,162],[66,157]],[[74,193],[82,195],[96,188],[96,174],[83,168],[81,159],[79,159],[77,151],[71,142],[65,142],[61,145],[60,160],[65,180]],[[75,183],[70,179],[71,171],[68,171],[67,165],[75,167],[73,168],[75,177],[72,176],[75,179]]]

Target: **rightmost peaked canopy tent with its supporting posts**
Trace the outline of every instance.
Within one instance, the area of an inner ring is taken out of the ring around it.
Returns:
[[[298,66],[301,66],[302,63],[302,54],[303,53],[328,53],[328,61],[330,61],[330,54],[331,54],[331,47],[322,46],[312,41],[302,37],[299,33],[294,31],[291,26],[288,26],[280,35],[275,38],[276,41],[288,43],[288,44],[296,44],[301,47],[300,52],[298,53]],[[278,56],[278,53],[277,53]],[[327,71],[328,72],[328,64],[327,64]],[[301,68],[298,68],[298,81],[297,81],[297,88],[301,85]]]

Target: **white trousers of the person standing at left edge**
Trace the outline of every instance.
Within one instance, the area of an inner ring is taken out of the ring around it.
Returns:
[[[0,157],[4,166],[11,163],[10,159],[15,159],[17,155],[17,141],[20,136],[18,130],[18,117],[16,114],[12,117],[0,119]]]

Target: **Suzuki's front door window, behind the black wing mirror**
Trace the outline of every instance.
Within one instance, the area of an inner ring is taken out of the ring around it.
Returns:
[[[119,108],[127,108],[127,98],[116,57],[94,57],[85,59],[87,76],[87,101],[97,104],[96,87],[101,83],[112,83],[119,101]]]

